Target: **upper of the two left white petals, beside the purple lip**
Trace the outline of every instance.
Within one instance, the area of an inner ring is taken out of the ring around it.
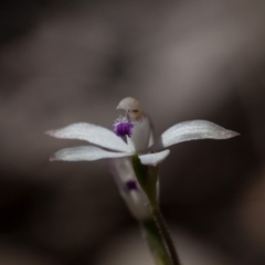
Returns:
[[[117,151],[130,151],[126,142],[112,130],[93,124],[72,124],[61,129],[49,130],[47,135],[62,139],[86,140]]]

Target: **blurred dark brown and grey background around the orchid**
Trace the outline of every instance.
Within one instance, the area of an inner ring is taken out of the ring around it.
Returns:
[[[49,162],[76,121],[112,128],[126,96],[157,136],[189,119],[241,132],[180,144],[161,208],[183,265],[265,264],[265,2],[0,3],[0,264],[149,265],[105,161]]]

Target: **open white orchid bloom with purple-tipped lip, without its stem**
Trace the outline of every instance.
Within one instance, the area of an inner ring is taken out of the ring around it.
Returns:
[[[150,121],[140,103],[127,97],[117,108],[125,109],[126,116],[115,120],[115,132],[86,123],[46,131],[55,138],[85,140],[94,145],[62,149],[51,157],[51,161],[94,161],[136,155],[142,165],[157,166],[170,152],[169,149],[160,150],[176,144],[198,139],[229,139],[239,135],[208,120],[190,120],[173,125],[152,144]]]

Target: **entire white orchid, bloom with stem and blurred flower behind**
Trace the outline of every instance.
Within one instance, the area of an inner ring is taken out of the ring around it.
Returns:
[[[227,139],[239,134],[211,121],[191,120],[173,125],[153,142],[150,121],[137,99],[124,98],[117,108],[124,109],[125,116],[115,120],[114,131],[86,123],[47,131],[52,137],[80,139],[94,145],[62,149],[50,160],[107,159],[121,197],[141,224],[156,264],[178,265],[180,262],[158,202],[158,165],[170,152],[161,149],[182,141]]]

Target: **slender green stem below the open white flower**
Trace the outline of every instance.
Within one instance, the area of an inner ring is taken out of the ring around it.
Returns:
[[[137,180],[150,202],[152,219],[144,221],[141,225],[153,259],[157,265],[180,265],[173,242],[159,209],[157,195],[158,168],[141,165],[137,156],[132,157],[132,166]]]

